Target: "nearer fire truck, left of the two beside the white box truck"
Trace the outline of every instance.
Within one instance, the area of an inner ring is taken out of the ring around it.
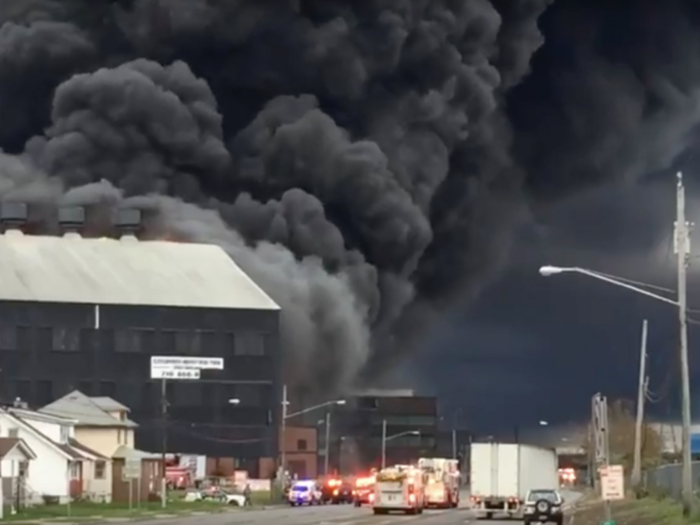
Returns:
[[[420,514],[425,507],[425,475],[420,469],[395,465],[377,474],[370,503],[375,514],[401,511]]]

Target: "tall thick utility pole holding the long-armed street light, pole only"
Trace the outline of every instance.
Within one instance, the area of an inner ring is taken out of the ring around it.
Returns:
[[[674,248],[678,256],[678,321],[680,325],[680,363],[681,363],[681,411],[683,447],[682,494],[683,515],[688,517],[693,506],[693,474],[690,453],[690,372],[688,367],[688,283],[687,269],[690,258],[690,223],[685,216],[685,187],[683,174],[678,172],[676,185],[676,224]]]

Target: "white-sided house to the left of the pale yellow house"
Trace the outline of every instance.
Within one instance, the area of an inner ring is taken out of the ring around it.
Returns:
[[[24,408],[0,409],[0,438],[21,440],[35,456],[22,465],[26,503],[41,503],[45,497],[66,502],[79,495],[83,463],[106,459],[77,442],[74,433],[71,419]],[[9,457],[0,460],[3,478],[6,473],[17,476],[15,461]]]

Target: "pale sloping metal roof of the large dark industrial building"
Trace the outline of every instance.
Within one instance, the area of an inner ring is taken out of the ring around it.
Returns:
[[[0,235],[0,300],[279,310],[219,246]]]

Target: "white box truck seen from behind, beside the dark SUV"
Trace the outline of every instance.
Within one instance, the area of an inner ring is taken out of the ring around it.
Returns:
[[[506,443],[472,443],[471,506],[478,518],[521,517],[529,490],[558,489],[553,449]]]

